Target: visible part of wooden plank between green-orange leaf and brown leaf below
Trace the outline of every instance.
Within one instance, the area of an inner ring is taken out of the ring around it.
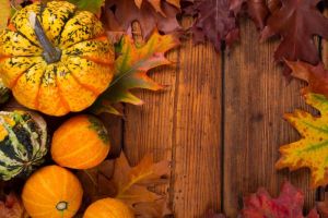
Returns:
[[[133,25],[134,40],[142,44],[138,23]],[[172,135],[174,117],[174,95],[178,62],[178,49],[167,55],[174,64],[150,72],[151,77],[160,84],[167,85],[161,92],[134,90],[145,104],[141,107],[127,105],[124,123],[124,150],[132,165],[137,165],[145,154],[154,155],[155,160],[172,160]],[[156,189],[169,195],[169,184]],[[172,203],[171,203],[172,205]]]

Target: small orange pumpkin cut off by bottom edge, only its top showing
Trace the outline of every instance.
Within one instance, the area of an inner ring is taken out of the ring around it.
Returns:
[[[83,218],[133,218],[133,214],[130,208],[120,202],[119,199],[114,198],[104,198],[98,199],[95,203],[91,204]]]

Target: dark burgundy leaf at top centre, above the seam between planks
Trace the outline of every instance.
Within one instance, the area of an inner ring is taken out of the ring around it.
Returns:
[[[236,17],[230,13],[229,0],[195,1],[185,10],[196,17],[191,27],[196,44],[211,41],[216,51],[222,41],[231,46],[239,37]]]

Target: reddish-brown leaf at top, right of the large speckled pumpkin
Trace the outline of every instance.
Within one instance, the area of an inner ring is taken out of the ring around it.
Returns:
[[[171,4],[173,0],[167,2],[162,1],[163,13],[157,13],[149,1],[143,1],[139,9],[132,0],[106,0],[102,20],[109,32],[127,32],[138,21],[144,39],[149,39],[155,29],[164,34],[178,32],[181,29],[176,19],[179,9]]]

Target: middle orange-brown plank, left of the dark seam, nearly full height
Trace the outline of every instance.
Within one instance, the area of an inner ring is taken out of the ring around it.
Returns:
[[[173,132],[177,218],[221,209],[221,56],[211,45],[183,44]]]

